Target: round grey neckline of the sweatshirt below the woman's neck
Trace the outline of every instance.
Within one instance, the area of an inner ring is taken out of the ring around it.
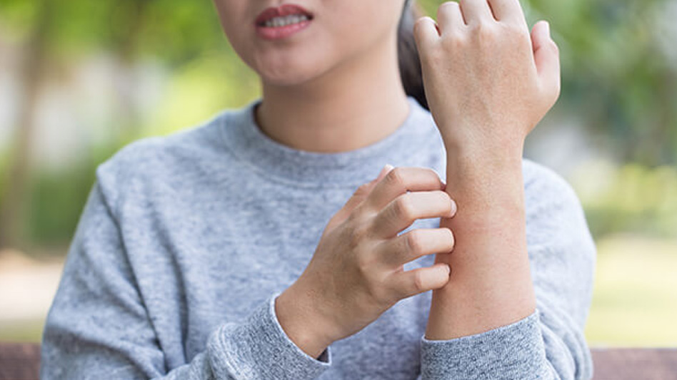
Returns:
[[[366,183],[376,178],[383,165],[397,166],[415,154],[431,129],[430,113],[409,96],[405,120],[381,140],[345,152],[311,152],[279,143],[261,130],[254,115],[261,101],[224,112],[219,123],[221,136],[237,158],[261,175],[296,185],[354,187]]]

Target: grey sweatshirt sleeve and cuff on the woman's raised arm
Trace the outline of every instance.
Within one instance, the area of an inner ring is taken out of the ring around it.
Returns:
[[[536,312],[450,340],[421,337],[421,379],[590,379],[583,335],[596,248],[566,181],[541,166],[525,178],[528,255]]]

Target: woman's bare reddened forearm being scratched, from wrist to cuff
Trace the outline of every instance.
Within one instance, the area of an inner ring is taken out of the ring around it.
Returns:
[[[426,339],[444,340],[517,322],[535,309],[526,250],[521,148],[509,154],[476,154],[447,148],[446,191],[456,200],[451,280],[433,291]]]

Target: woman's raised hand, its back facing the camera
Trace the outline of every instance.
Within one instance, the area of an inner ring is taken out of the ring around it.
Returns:
[[[414,25],[423,83],[445,143],[481,154],[521,148],[560,91],[558,48],[531,35],[518,0],[448,1]],[[516,152],[515,152],[516,153]]]

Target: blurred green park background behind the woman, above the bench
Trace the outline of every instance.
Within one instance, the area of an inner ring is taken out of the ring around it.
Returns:
[[[598,244],[588,339],[676,346],[677,1],[522,3],[561,49],[526,156],[570,181]],[[1,1],[0,341],[39,341],[97,165],[258,96],[211,1]]]

